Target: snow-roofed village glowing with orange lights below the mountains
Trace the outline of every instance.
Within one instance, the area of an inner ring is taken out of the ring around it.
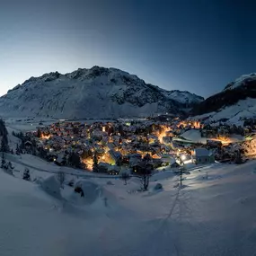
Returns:
[[[93,123],[59,120],[49,126],[40,123],[27,132],[23,148],[57,165],[115,175],[127,169],[139,174],[145,162],[151,171],[215,161],[243,163],[256,154],[255,128],[253,120],[236,127],[168,115]]]

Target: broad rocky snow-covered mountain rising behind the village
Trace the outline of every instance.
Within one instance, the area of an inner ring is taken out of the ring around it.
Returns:
[[[116,68],[93,66],[66,75],[31,77],[0,98],[0,110],[9,116],[145,117],[181,114],[201,101],[196,94],[166,91]]]

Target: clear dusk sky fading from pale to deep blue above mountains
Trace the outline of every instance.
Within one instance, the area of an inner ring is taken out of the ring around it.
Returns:
[[[204,97],[256,72],[256,1],[0,0],[0,94],[31,76],[117,67]]]

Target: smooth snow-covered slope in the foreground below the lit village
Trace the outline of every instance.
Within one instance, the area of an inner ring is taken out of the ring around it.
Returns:
[[[66,174],[83,184],[81,198],[57,188],[56,165],[26,154],[7,158],[15,169],[14,177],[0,172],[0,255],[256,255],[254,161],[195,169],[183,187],[172,171],[159,172],[146,192],[137,191],[137,178],[124,185]],[[41,185],[20,179],[26,165]],[[157,183],[163,190],[154,190]]]

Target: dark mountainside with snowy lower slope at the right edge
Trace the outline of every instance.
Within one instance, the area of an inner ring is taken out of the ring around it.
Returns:
[[[256,73],[242,75],[222,92],[199,102],[192,115],[211,121],[228,119],[233,123],[256,116]]]

